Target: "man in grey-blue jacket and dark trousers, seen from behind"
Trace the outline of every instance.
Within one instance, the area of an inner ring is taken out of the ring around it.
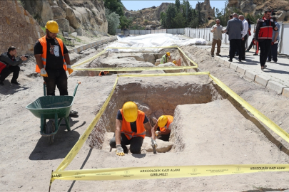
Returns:
[[[241,49],[241,41],[242,41],[242,34],[243,31],[243,23],[238,19],[238,14],[233,14],[233,19],[229,20],[227,23],[227,32],[229,35],[230,41],[230,59],[229,61],[232,62],[233,57],[235,56],[235,46],[239,51],[239,62],[242,60],[242,49]]]

